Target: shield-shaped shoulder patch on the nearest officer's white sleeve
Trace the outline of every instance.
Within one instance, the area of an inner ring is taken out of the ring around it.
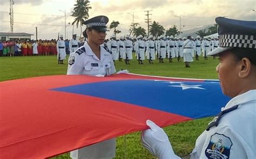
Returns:
[[[230,137],[224,134],[215,133],[211,136],[210,143],[205,149],[207,158],[230,158],[230,149],[232,147]]]

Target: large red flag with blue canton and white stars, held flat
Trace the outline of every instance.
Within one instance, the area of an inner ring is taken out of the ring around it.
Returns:
[[[0,158],[46,158],[120,135],[213,116],[218,80],[116,74],[0,82]]]

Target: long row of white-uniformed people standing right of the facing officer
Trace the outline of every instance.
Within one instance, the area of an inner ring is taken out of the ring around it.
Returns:
[[[192,38],[192,37],[191,37]],[[177,58],[181,61],[184,54],[184,42],[187,38],[177,38],[173,36],[160,36],[158,40],[154,39],[153,36],[146,38],[142,35],[138,36],[137,39],[132,39],[130,36],[125,38],[120,37],[119,40],[116,36],[111,36],[110,40],[107,40],[105,46],[112,52],[113,60],[122,61],[125,59],[126,64],[130,64],[132,60],[132,51],[136,52],[137,60],[139,64],[143,64],[143,60],[147,57],[150,64],[153,64],[152,60],[159,59],[159,63],[164,63],[164,58],[169,59],[172,62],[173,58]],[[196,57],[199,60],[199,56],[203,54],[205,60],[207,60],[206,54],[218,47],[218,38],[204,38],[201,39],[199,36],[197,39],[191,39],[193,50],[191,56]]]

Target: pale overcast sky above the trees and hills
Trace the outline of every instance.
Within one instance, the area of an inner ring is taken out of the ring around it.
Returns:
[[[9,0],[0,0],[0,32],[10,32]],[[66,25],[72,23],[71,17],[75,0],[14,0],[14,32],[26,32],[36,34],[38,39],[52,39],[64,31],[64,13],[66,10]],[[165,29],[173,25],[179,28],[181,15],[181,30],[189,30],[194,27],[214,24],[215,17],[256,20],[255,0],[91,0],[89,10],[90,18],[98,15],[109,17],[109,24],[114,20],[120,25],[118,29],[123,36],[129,32],[134,14],[134,23],[147,30],[145,23],[146,10],[151,21],[159,22]],[[129,14],[130,13],[130,14]],[[83,26],[83,30],[84,30]],[[74,27],[74,33],[80,35],[80,27]],[[112,31],[107,32],[110,36]],[[71,38],[72,26],[66,26],[66,37]],[[32,36],[35,39],[35,36]]]

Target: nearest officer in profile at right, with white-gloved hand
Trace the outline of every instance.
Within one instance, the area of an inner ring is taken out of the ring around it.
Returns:
[[[232,99],[198,137],[191,158],[256,158],[256,22],[217,17],[216,67],[223,93]],[[147,120],[142,144],[160,159],[179,158],[164,130]]]

